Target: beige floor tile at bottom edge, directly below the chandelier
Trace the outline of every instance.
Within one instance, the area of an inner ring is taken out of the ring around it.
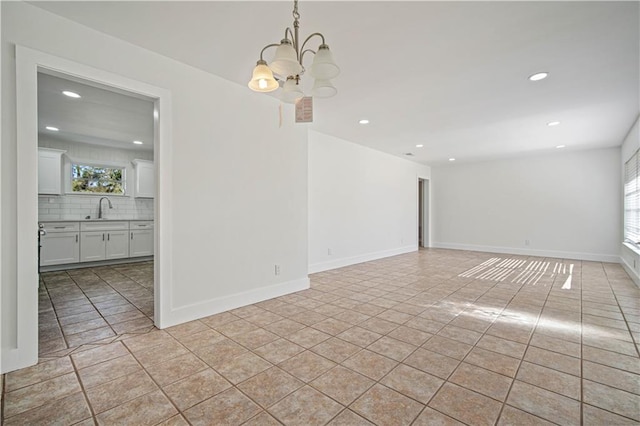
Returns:
[[[343,407],[317,390],[305,386],[269,409],[269,413],[286,425],[324,425]]]

